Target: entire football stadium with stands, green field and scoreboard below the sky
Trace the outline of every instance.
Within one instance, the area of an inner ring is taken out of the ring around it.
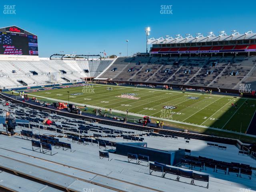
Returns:
[[[39,28],[0,26],[0,192],[256,191],[253,30],[146,26],[146,49],[125,38],[118,56],[60,52]]]

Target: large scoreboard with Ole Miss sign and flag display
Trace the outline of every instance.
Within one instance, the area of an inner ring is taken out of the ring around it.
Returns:
[[[20,28],[5,28],[0,31],[0,55],[38,56],[37,36]]]

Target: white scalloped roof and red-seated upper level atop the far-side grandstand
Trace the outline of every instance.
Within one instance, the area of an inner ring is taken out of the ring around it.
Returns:
[[[225,56],[226,53],[233,53],[236,55],[255,55],[256,52],[256,33],[252,31],[239,34],[227,35],[225,32],[215,36],[210,34],[209,36],[188,36],[182,38],[151,38],[148,40],[148,44],[152,44],[150,52],[152,54],[198,54],[201,56],[204,53],[209,53],[210,56],[221,53],[221,56]],[[246,53],[246,54],[240,54]]]

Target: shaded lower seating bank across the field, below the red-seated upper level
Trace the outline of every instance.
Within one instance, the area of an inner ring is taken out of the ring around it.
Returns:
[[[222,49],[230,49],[230,47],[220,46]],[[241,47],[236,46],[237,49]],[[125,67],[123,67],[124,64],[126,64]],[[98,77],[109,78],[112,81],[228,89],[238,89],[239,84],[251,82],[251,88],[254,89],[256,88],[254,83],[255,64],[255,56],[118,58],[111,68]],[[112,68],[117,68],[117,70],[113,72]],[[130,69],[132,71],[129,71]]]

